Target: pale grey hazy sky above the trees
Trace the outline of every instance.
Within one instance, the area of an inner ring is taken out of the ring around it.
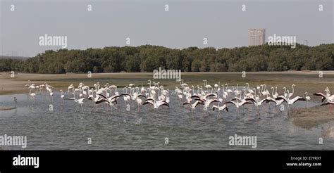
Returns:
[[[266,40],[277,34],[311,46],[334,42],[333,0],[0,1],[0,55],[35,56],[61,48],[39,46],[44,34],[66,36],[68,49],[125,46],[127,37],[130,46],[233,48],[247,46],[249,28],[265,28]]]

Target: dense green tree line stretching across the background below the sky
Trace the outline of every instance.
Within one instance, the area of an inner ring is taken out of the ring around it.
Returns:
[[[334,70],[334,44],[182,50],[144,45],[60,49],[27,60],[0,59],[0,71],[34,73],[153,72],[159,67],[183,72]]]

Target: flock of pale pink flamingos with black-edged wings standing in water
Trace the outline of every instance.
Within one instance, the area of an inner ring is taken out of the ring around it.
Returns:
[[[91,102],[92,108],[97,108],[97,105],[104,104],[108,109],[111,107],[117,109],[118,99],[123,97],[125,105],[131,102],[135,102],[137,105],[137,111],[140,112],[140,107],[143,105],[151,105],[154,109],[159,109],[161,107],[169,107],[169,96],[175,95],[180,105],[184,108],[190,108],[190,110],[195,110],[199,106],[202,106],[204,111],[209,108],[212,110],[228,111],[229,106],[235,106],[237,110],[242,108],[244,105],[254,105],[256,107],[257,113],[259,114],[259,108],[261,106],[266,106],[271,103],[274,105],[285,104],[290,108],[294,103],[298,101],[310,101],[310,97],[307,92],[305,96],[294,96],[295,84],[292,84],[292,91],[290,92],[286,87],[283,88],[284,93],[282,95],[278,94],[277,87],[271,87],[271,91],[266,89],[266,84],[261,84],[259,87],[250,88],[249,84],[246,83],[247,87],[233,86],[228,87],[228,84],[214,84],[212,87],[208,84],[207,80],[203,81],[202,86],[190,86],[183,83],[181,80],[179,86],[175,86],[174,91],[169,91],[164,89],[163,85],[159,82],[148,80],[147,87],[136,87],[135,84],[129,84],[127,87],[123,88],[123,93],[119,93],[116,85],[105,84],[100,86],[99,82],[94,84],[94,87],[89,87],[82,82],[75,87],[70,84],[68,91],[61,92],[61,99],[63,101],[75,101],[81,106],[82,113],[84,102]],[[44,83],[41,85],[26,84],[25,87],[29,90],[29,95],[35,100],[35,96],[40,93],[47,92],[52,99],[54,96],[54,87]],[[330,90],[328,87],[323,93],[315,93],[315,96],[321,97],[321,105],[333,105],[334,104],[334,94],[330,95]],[[67,95],[67,96],[66,96]],[[325,102],[324,102],[325,101]]]

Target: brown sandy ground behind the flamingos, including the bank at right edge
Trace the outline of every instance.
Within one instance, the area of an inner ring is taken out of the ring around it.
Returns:
[[[294,96],[304,96],[304,92],[307,91],[311,96],[312,101],[318,101],[320,104],[320,98],[312,96],[315,92],[324,93],[324,89],[329,87],[334,91],[334,71],[323,71],[323,77],[318,76],[318,71],[288,71],[288,72],[247,72],[246,77],[241,77],[241,72],[183,72],[182,79],[187,84],[196,86],[202,85],[203,79],[207,79],[211,86],[214,82],[221,84],[228,83],[229,87],[236,84],[249,83],[251,87],[259,86],[260,84],[267,84],[267,88],[271,91],[270,87],[278,87],[278,93],[282,94],[283,87],[287,87],[290,91],[291,85],[296,84]],[[30,79],[32,83],[44,84],[47,82],[51,84],[55,90],[63,89],[67,90],[67,87],[73,83],[78,86],[80,79],[85,80],[85,84],[93,86],[99,79],[110,79],[110,84],[113,84],[113,79],[125,79],[118,80],[117,86],[124,87],[137,79],[137,86],[141,86],[144,82],[146,86],[147,79],[152,79],[153,74],[151,72],[135,72],[135,73],[99,73],[92,74],[92,79],[87,80],[87,74],[61,74],[61,75],[44,75],[44,74],[27,74],[18,73],[15,77],[11,77],[8,72],[0,72],[0,95],[4,94],[23,94],[27,93],[25,84],[29,84]],[[128,80],[127,80],[128,79]],[[73,82],[73,80],[75,82]],[[179,82],[175,82],[175,79],[156,79],[161,82],[164,87],[174,89],[175,86],[179,86]],[[100,82],[101,83],[101,82]],[[104,84],[101,84],[102,86]],[[333,108],[334,109],[334,108]],[[312,108],[301,108],[292,110],[293,123],[299,127],[310,129],[316,127],[318,124],[326,123],[334,118],[334,110],[328,112],[328,106],[315,106]]]

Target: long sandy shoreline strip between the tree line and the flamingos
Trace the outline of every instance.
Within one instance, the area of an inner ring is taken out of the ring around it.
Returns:
[[[294,78],[295,76],[295,78]],[[125,73],[97,73],[92,74],[91,81],[85,82],[87,85],[94,84],[99,79],[110,79],[109,83],[113,83],[113,79],[129,79],[128,82],[118,82],[117,86],[127,86],[131,81],[130,79],[142,79],[147,82],[147,79],[152,79],[153,75],[151,72],[125,72]],[[196,79],[198,77],[198,79]],[[231,84],[231,82],[249,82],[252,84],[276,84],[276,85],[287,85],[287,87],[294,82],[307,83],[314,81],[321,86],[330,84],[334,87],[334,71],[324,71],[323,78],[318,77],[318,71],[287,71],[287,72],[247,72],[247,77],[242,78],[241,72],[183,72],[182,78],[185,82],[202,84],[202,79],[209,78],[209,82],[218,82],[219,80],[224,83]],[[211,78],[211,81],[210,81]],[[295,80],[298,78],[297,80]],[[0,72],[0,95],[4,94],[22,94],[26,93],[25,84],[29,84],[28,80],[32,83],[44,84],[47,82],[57,89],[66,89],[72,82],[71,79],[89,79],[87,74],[29,74],[29,73],[18,73],[15,77],[11,77],[9,72]],[[95,80],[96,79],[96,80]],[[290,79],[293,79],[291,81]],[[175,82],[175,79],[156,79],[165,80],[163,85],[169,89],[174,89],[175,85],[179,82]],[[247,81],[248,80],[248,81]],[[161,82],[162,83],[162,82]],[[232,84],[233,84],[232,83]],[[311,83],[310,83],[311,84]],[[137,84],[140,85],[140,84]],[[146,85],[146,83],[144,83]],[[318,86],[318,87],[321,87]],[[323,87],[325,88],[325,87]]]

